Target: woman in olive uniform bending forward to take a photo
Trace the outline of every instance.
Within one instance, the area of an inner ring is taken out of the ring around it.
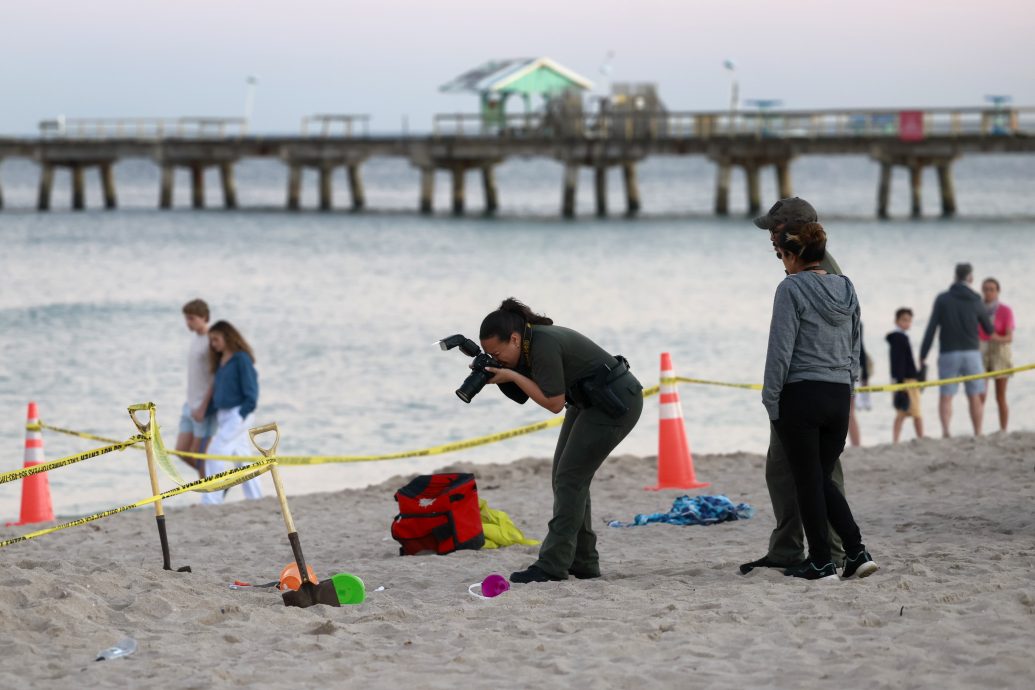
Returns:
[[[481,322],[481,348],[504,368],[485,367],[490,383],[516,386],[552,413],[567,408],[554,452],[554,511],[539,560],[511,582],[600,576],[589,487],[603,460],[643,411],[643,386],[622,357],[585,335],[534,313],[513,298]],[[511,395],[511,397],[513,397]]]

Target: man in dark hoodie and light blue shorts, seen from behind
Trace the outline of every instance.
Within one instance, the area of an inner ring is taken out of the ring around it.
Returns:
[[[970,264],[956,264],[955,278],[952,286],[935,299],[930,321],[927,322],[927,330],[924,331],[923,343],[920,346],[920,368],[923,368],[930,347],[935,343],[935,333],[941,329],[938,341],[939,379],[982,373],[984,365],[981,361],[978,328],[988,335],[996,330],[981,303],[981,297],[970,288],[970,283],[974,281],[973,267]],[[981,436],[985,384],[983,379],[964,383],[974,436]],[[949,424],[952,421],[952,396],[958,388],[958,383],[940,387],[938,416],[942,422],[942,437],[945,439],[951,436]]]

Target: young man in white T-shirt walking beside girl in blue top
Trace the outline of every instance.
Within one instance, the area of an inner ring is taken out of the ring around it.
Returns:
[[[180,413],[180,429],[176,437],[176,450],[199,453],[212,437],[215,419],[207,414],[212,395],[212,370],[209,363],[208,304],[204,300],[190,300],[183,305],[183,319],[194,336],[187,351],[187,399]],[[204,460],[193,457],[181,459],[205,476]]]

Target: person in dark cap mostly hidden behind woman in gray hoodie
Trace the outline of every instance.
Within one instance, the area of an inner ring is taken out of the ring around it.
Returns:
[[[782,199],[776,202],[769,212],[755,219],[755,224],[763,230],[769,231],[769,241],[773,249],[776,250],[777,258],[780,250],[776,246],[776,240],[783,232],[794,232],[808,222],[817,222],[819,217],[812,205],[804,199],[794,197]],[[824,251],[820,259],[820,268],[831,275],[840,275],[840,267],[829,251]],[[785,268],[786,272],[786,268]],[[831,480],[845,494],[845,473],[841,469],[840,458],[834,460]],[[758,561],[751,561],[740,566],[741,574],[746,575],[755,568],[779,568],[786,570],[799,565],[805,561],[804,532],[801,521],[801,513],[798,510],[797,490],[795,488],[794,475],[788,462],[787,452],[783,444],[775,429],[769,429],[769,451],[766,453],[766,486],[769,489],[769,499],[773,505],[773,516],[776,518],[776,527],[769,537],[769,550]],[[830,553],[835,564],[840,564],[845,560],[845,550],[841,546],[837,532],[830,527]]]

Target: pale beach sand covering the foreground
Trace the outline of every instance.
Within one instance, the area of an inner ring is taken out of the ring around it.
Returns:
[[[1031,687],[1035,434],[849,451],[849,500],[881,570],[837,583],[737,574],[772,528],[763,458],[696,460],[703,492],[758,515],[607,528],[680,493],[643,490],[653,458],[614,458],[593,489],[604,577],[491,601],[467,586],[527,566],[535,547],[398,557],[388,527],[403,478],[291,501],[318,574],[365,580],[359,606],[228,589],[291,560],[274,499],[168,502],[174,566],[193,574],[160,569],[148,511],[16,544],[0,551],[0,687]],[[473,470],[481,496],[541,538],[548,461]],[[294,473],[319,471],[285,470],[289,492]],[[127,634],[135,655],[93,662]]]

